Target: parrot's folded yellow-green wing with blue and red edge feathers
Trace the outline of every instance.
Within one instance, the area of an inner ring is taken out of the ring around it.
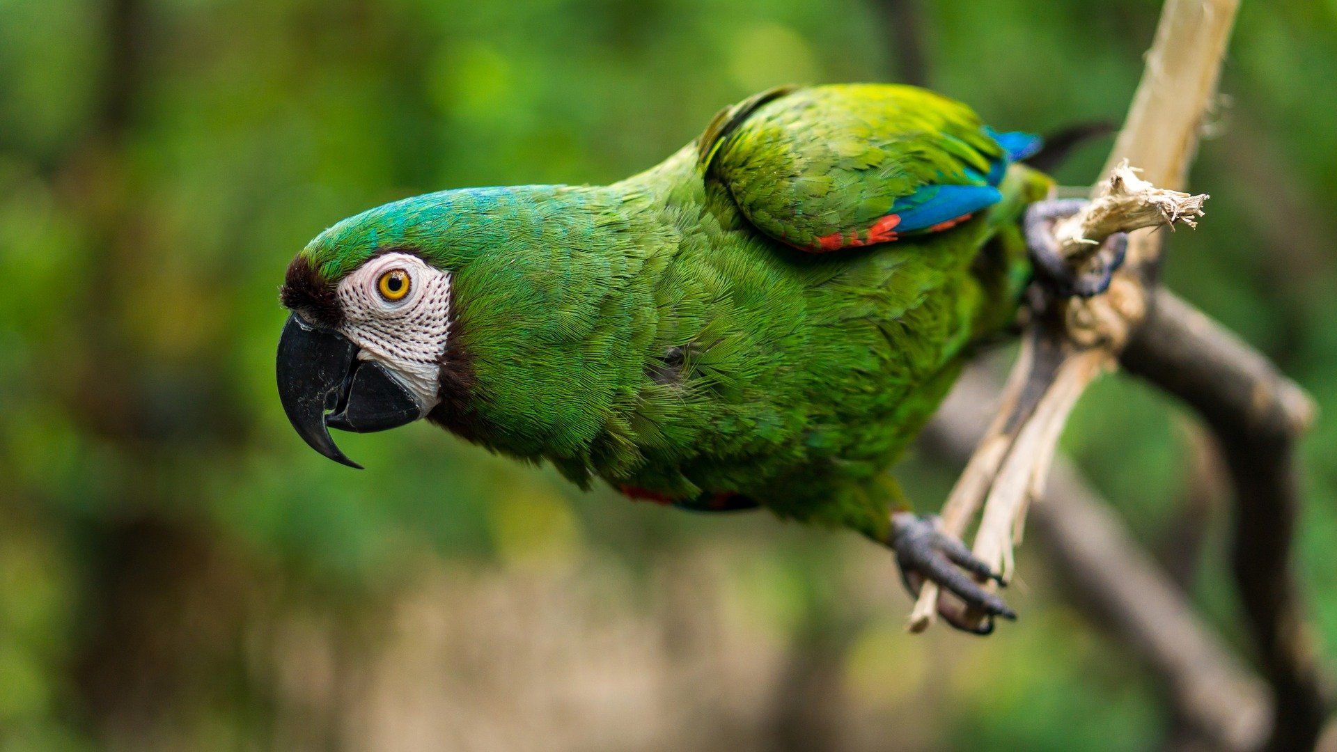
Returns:
[[[715,118],[699,158],[759,230],[825,253],[968,219],[1038,147],[931,91],[856,84],[758,94]]]

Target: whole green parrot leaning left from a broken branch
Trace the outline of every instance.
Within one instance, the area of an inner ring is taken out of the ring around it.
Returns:
[[[1076,276],[1027,242],[1039,149],[924,88],[786,86],[612,185],[366,210],[286,269],[283,409],[350,467],[329,428],[425,419],[580,488],[853,530],[988,633],[1005,582],[890,470],[1032,282],[1091,296],[1122,261]]]

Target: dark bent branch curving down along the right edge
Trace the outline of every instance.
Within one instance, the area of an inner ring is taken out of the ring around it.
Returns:
[[[1123,367],[1190,404],[1211,427],[1235,487],[1233,569],[1275,705],[1267,749],[1313,749],[1332,705],[1290,562],[1300,492],[1294,446],[1313,400],[1262,355],[1158,290]]]

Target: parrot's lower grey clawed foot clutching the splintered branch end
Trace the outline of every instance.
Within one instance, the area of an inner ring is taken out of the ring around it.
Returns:
[[[905,587],[912,594],[919,595],[924,582],[932,581],[961,599],[960,603],[939,603],[939,614],[956,629],[989,634],[993,632],[995,617],[1016,620],[1016,612],[1003,598],[976,581],[992,579],[1007,586],[1003,575],[975,558],[965,543],[944,533],[943,521],[937,515],[920,516],[908,511],[892,514],[890,545],[896,549],[896,563],[901,569]],[[976,614],[984,614],[984,621],[976,624]]]

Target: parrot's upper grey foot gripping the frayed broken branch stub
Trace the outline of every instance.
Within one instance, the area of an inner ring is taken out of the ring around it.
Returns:
[[[1123,266],[1128,252],[1128,236],[1115,233],[1095,253],[1092,269],[1078,273],[1068,266],[1054,240],[1054,223],[1076,214],[1086,205],[1082,198],[1063,198],[1040,201],[1025,210],[1025,245],[1031,252],[1031,264],[1044,288],[1056,298],[1092,297],[1110,289],[1110,280]]]

